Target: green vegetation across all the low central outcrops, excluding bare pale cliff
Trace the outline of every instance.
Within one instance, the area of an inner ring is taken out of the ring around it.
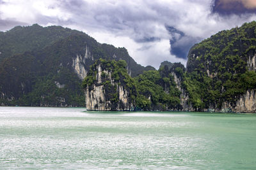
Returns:
[[[101,67],[100,84],[97,82],[98,67]],[[176,66],[176,65],[175,65]],[[182,66],[181,64],[179,66]],[[83,81],[84,89],[92,90],[93,85],[104,85],[106,99],[112,104],[118,103],[118,93],[116,82],[122,85],[131,94],[131,101],[135,103],[137,110],[181,110],[180,91],[176,87],[173,75],[167,66],[161,67],[159,71],[145,71],[143,74],[132,78],[127,74],[127,64],[125,60],[104,60],[95,62],[88,76]],[[173,68],[173,67],[172,67]],[[184,73],[183,67],[175,67],[177,74]],[[111,75],[111,80],[109,77]]]

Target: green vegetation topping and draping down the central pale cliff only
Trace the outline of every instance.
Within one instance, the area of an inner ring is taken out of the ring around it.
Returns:
[[[99,72],[100,67],[100,72]],[[101,76],[100,80],[97,76]],[[136,87],[134,79],[127,73],[127,63],[125,60],[97,60],[90,67],[88,76],[84,78],[83,88],[92,90],[93,86],[104,85],[105,99],[111,101],[111,108],[115,110],[119,101],[118,86],[122,86],[129,94],[129,103],[133,103],[136,97]]]

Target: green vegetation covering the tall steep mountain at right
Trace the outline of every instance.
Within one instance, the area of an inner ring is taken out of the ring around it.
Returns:
[[[255,89],[255,71],[247,61],[255,55],[256,22],[221,31],[191,48],[183,83],[189,103],[197,110],[234,105],[248,89]]]

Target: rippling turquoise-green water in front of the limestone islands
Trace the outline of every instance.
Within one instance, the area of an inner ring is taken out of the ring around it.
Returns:
[[[256,169],[256,115],[0,107],[0,169]]]

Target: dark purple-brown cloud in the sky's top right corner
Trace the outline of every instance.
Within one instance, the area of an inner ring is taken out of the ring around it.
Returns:
[[[214,13],[221,15],[236,14],[241,15],[244,13],[256,13],[255,0],[215,0],[212,6]]]

